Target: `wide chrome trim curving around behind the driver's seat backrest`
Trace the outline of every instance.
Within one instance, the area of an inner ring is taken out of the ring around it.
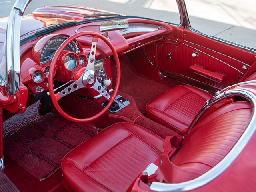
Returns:
[[[175,183],[175,184],[166,184],[166,183],[160,183],[160,182],[152,182],[150,186],[150,190],[153,191],[161,191],[161,192],[172,192],[172,191],[188,191],[188,190],[194,190],[196,188],[202,187],[206,185],[207,183],[214,180],[216,177],[218,177],[224,170],[226,170],[230,164],[237,158],[237,156],[242,152],[252,135],[254,134],[256,130],[256,112],[255,112],[255,106],[256,106],[256,96],[254,93],[244,90],[242,88],[235,89],[235,90],[227,90],[214,98],[212,98],[208,105],[212,105],[219,100],[222,100],[223,98],[229,97],[229,96],[242,96],[246,99],[248,99],[252,105],[252,117],[250,120],[250,123],[248,124],[246,130],[242,134],[242,136],[239,138],[239,140],[236,142],[234,147],[230,150],[230,152],[212,169],[210,169],[208,172],[202,174],[198,178],[195,178],[193,180],[182,182],[182,183]],[[207,106],[205,106],[207,108]]]

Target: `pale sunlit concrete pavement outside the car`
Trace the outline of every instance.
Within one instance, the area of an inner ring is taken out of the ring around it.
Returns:
[[[15,0],[0,0],[0,17],[8,16]],[[178,23],[174,0],[34,0],[26,13],[38,7],[74,4],[128,15]],[[192,27],[206,34],[256,49],[256,1],[186,0]],[[210,5],[209,9],[208,6]],[[212,10],[212,11],[211,11]]]

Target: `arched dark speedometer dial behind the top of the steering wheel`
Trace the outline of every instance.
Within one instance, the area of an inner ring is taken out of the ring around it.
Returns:
[[[67,37],[61,36],[61,37],[55,37],[49,40],[45,44],[44,48],[42,49],[42,53],[40,56],[40,64],[43,64],[45,62],[52,60],[54,53],[66,39]],[[64,50],[70,51],[70,52],[79,52],[78,45],[74,41],[70,42],[64,48]]]

